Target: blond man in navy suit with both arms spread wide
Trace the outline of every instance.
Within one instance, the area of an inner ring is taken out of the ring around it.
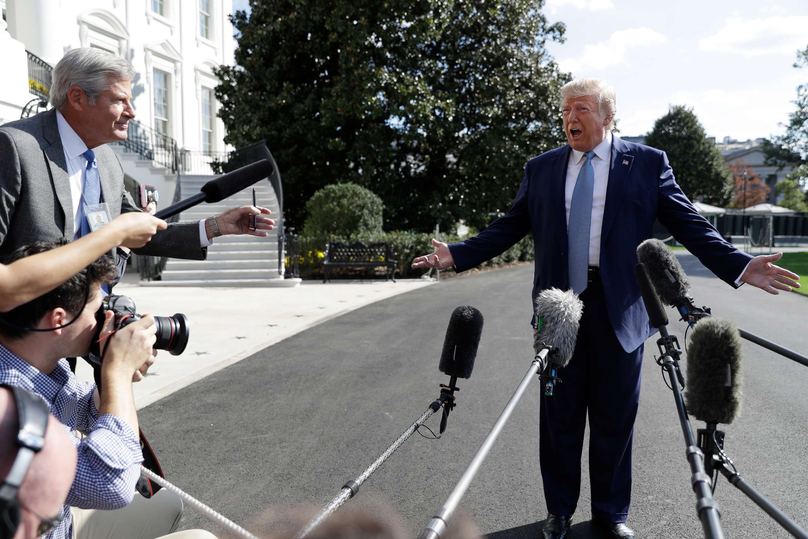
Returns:
[[[436,251],[412,267],[463,272],[533,233],[533,299],[545,288],[571,288],[584,305],[562,391],[541,400],[539,454],[549,512],[542,533],[564,539],[569,532],[588,415],[592,522],[605,537],[630,538],[625,521],[642,346],[655,331],[634,278],[637,246],[659,218],[734,288],[747,283],[776,294],[798,288],[798,276],[772,264],[782,253],[753,258],[724,241],[684,196],[664,152],[612,135],[612,86],[576,79],[562,87],[561,106],[568,144],[528,162],[507,215],[462,243],[433,239]]]

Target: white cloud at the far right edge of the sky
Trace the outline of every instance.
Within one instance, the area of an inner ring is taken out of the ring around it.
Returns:
[[[699,41],[705,53],[739,53],[744,57],[793,54],[804,48],[808,15],[774,16],[766,19],[727,19],[713,36]]]

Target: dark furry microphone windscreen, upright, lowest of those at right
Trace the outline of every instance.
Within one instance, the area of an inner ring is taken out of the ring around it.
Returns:
[[[743,360],[738,326],[727,318],[702,318],[688,343],[688,414],[707,423],[732,423],[741,411]]]

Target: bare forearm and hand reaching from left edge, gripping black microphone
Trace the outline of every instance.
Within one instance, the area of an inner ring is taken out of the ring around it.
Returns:
[[[154,213],[154,212],[152,212]],[[99,256],[116,246],[135,249],[144,246],[166,221],[147,213],[128,212],[75,242],[38,255],[0,265],[0,313],[5,313],[53,290]]]

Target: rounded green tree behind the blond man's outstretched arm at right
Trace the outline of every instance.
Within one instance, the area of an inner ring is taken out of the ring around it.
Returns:
[[[646,145],[667,154],[676,183],[690,200],[704,196],[705,204],[713,206],[725,206],[732,200],[732,174],[692,108],[671,107],[654,123]]]

